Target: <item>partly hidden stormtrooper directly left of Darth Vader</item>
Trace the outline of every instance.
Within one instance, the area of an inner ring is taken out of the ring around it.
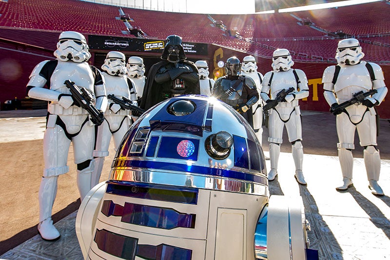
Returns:
[[[127,77],[129,77],[136,88],[137,92],[137,101],[139,102],[142,98],[143,88],[145,86],[146,77],[145,74],[145,65],[143,64],[143,59],[137,56],[132,56],[127,60]]]

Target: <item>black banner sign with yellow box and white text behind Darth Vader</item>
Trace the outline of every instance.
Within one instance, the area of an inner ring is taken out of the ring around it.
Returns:
[[[165,41],[89,35],[88,45],[91,50],[162,53]],[[207,43],[183,42],[183,49],[191,55],[208,55]]]

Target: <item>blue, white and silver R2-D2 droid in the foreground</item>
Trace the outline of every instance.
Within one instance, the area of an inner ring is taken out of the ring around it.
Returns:
[[[76,220],[89,259],[301,260],[306,228],[300,197],[269,197],[248,122],[200,95],[138,118]]]

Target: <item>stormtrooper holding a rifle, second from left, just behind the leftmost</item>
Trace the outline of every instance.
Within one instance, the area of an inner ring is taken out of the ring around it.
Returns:
[[[137,93],[132,81],[126,76],[126,58],[121,52],[111,51],[107,54],[104,64],[101,66],[102,75],[106,84],[107,95],[118,98],[125,97],[133,101],[137,106]],[[98,126],[96,145],[94,150],[95,169],[92,176],[92,187],[98,184],[104,165],[104,158],[108,156],[111,137],[114,138],[114,149],[120,144],[123,136],[129,130],[131,111],[122,109],[113,100],[108,100],[107,109],[104,111],[104,122]]]

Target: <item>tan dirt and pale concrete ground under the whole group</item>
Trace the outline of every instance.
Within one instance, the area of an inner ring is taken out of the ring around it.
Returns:
[[[70,150],[70,172],[59,178],[53,214],[61,238],[46,242],[37,235],[38,189],[43,169],[42,138],[46,111],[0,111],[0,259],[81,259],[75,234],[79,205],[76,167]],[[278,177],[270,182],[274,195],[300,195],[306,218],[312,225],[311,248],[320,259],[390,259],[390,125],[381,120],[378,147],[381,151],[381,184],[385,196],[368,189],[362,148],[355,141],[354,187],[337,192],[342,179],[336,151],[335,118],[329,113],[304,112],[302,117],[304,175],[307,187],[293,178],[291,145],[282,144]],[[268,151],[268,129],[263,148]],[[357,139],[357,137],[356,137]],[[112,161],[111,145],[108,161]],[[270,168],[269,161],[267,167]],[[104,165],[108,175],[110,163]],[[103,174],[104,175],[104,174]],[[102,176],[101,180],[107,178]]]

